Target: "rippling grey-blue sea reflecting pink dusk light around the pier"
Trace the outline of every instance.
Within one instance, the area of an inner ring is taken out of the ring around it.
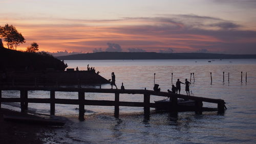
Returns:
[[[114,117],[113,106],[85,106],[85,120],[78,120],[78,105],[56,104],[55,115],[66,121],[45,138],[45,143],[256,143],[256,59],[180,59],[180,60],[65,60],[68,68],[94,67],[105,79],[116,76],[118,88],[161,91],[171,89],[177,79],[191,82],[191,94],[223,99],[227,109],[217,111],[157,112],[145,118],[141,107],[120,107]],[[211,76],[210,76],[211,73]],[[172,77],[173,76],[173,77]],[[191,77],[191,78],[190,78]],[[211,81],[212,77],[212,81]],[[76,86],[73,86],[76,87]],[[82,86],[94,87],[99,86]],[[110,84],[101,88],[111,88]],[[19,91],[2,91],[3,97],[19,97]],[[186,94],[181,85],[181,94]],[[49,91],[28,91],[29,98],[49,98]],[[78,99],[77,92],[56,92],[56,98]],[[87,100],[112,100],[111,93],[86,93]],[[151,103],[166,99],[151,95]],[[120,101],[143,102],[143,94],[120,94]],[[217,104],[203,103],[204,107]],[[4,108],[20,111],[18,103]],[[29,103],[29,113],[49,116],[50,104]]]

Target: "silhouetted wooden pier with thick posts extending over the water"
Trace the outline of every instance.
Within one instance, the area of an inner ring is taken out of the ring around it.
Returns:
[[[20,91],[20,98],[2,98],[2,90],[18,90]],[[33,90],[42,90],[50,91],[49,99],[42,98],[28,98],[28,91]],[[56,99],[56,91],[66,91],[66,92],[78,92],[78,99]],[[86,100],[85,93],[94,92],[94,93],[113,93],[115,95],[115,101],[106,101],[106,100]],[[143,102],[120,102],[119,94],[143,94]],[[224,113],[225,102],[221,99],[209,99],[202,97],[187,96],[183,94],[175,94],[168,92],[156,92],[153,90],[146,89],[102,89],[102,88],[65,88],[65,87],[32,87],[32,86],[16,86],[16,87],[0,87],[0,108],[2,102],[15,102],[20,103],[20,108],[22,112],[28,110],[28,103],[48,103],[50,104],[50,113],[51,115],[55,114],[55,104],[69,104],[69,105],[79,105],[79,119],[83,121],[84,119],[84,105],[97,105],[97,106],[114,106],[115,112],[114,115],[118,117],[119,115],[119,106],[128,106],[128,107],[144,107],[144,115],[150,115],[150,108],[155,108],[155,103],[150,103],[151,96],[160,96],[160,97],[170,97],[172,99],[172,105],[170,111],[173,113],[178,113],[179,109],[177,107],[177,99],[188,99],[196,101],[195,111],[198,114],[202,114],[203,107],[202,102],[216,103],[218,104],[218,112]]]

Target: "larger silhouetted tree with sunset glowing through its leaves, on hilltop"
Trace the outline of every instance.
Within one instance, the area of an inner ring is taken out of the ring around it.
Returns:
[[[6,24],[5,27],[0,27],[0,36],[5,38],[8,49],[16,50],[20,43],[25,43],[25,38],[12,25]]]

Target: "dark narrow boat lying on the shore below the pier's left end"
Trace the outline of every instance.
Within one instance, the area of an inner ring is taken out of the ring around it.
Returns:
[[[60,121],[59,119],[34,118],[34,117],[17,116],[17,115],[4,115],[4,120],[8,122],[27,123],[27,124],[36,124],[36,125],[50,125],[50,126],[65,125],[65,123]]]

